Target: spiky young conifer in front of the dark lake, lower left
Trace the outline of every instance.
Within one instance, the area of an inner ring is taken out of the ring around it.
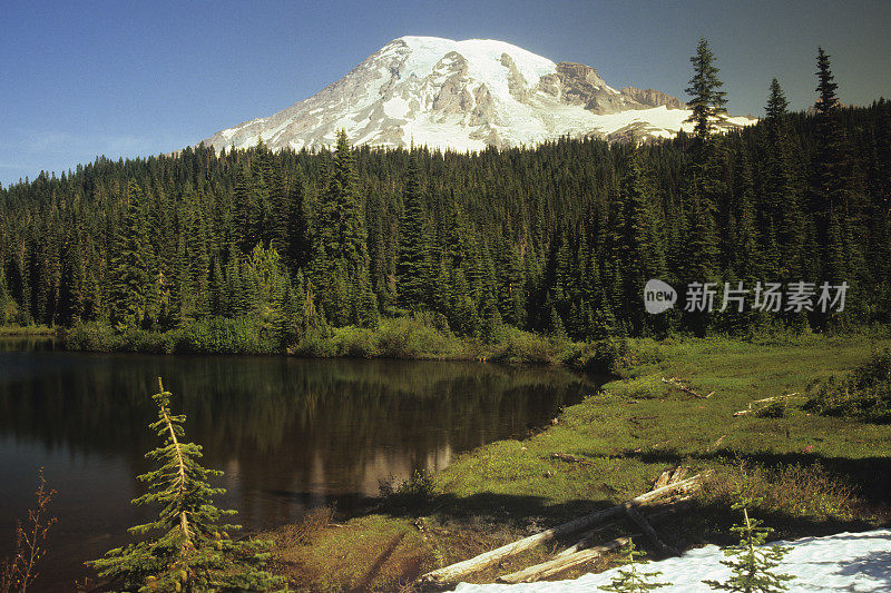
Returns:
[[[263,571],[268,559],[268,542],[233,541],[229,531],[238,525],[218,524],[235,511],[221,511],[212,497],[225,488],[212,488],[207,478],[223,472],[202,467],[202,447],[184,443],[184,415],[170,413],[170,393],[158,377],[158,419],[149,425],[164,445],[146,454],[158,467],[143,474],[148,492],[133,504],[156,503],[161,506],[158,518],[130,527],[134,535],[160,533],[116,547],[105,557],[87,562],[99,575],[125,591],[271,591],[286,590],[281,577]]]

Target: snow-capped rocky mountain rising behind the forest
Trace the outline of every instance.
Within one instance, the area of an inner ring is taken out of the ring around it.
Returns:
[[[531,146],[561,136],[670,137],[686,105],[657,90],[616,90],[597,70],[552,62],[488,39],[401,37],[309,99],[204,140],[246,148],[319,148],[339,129],[352,144],[478,150]],[[728,118],[744,126],[750,118]]]

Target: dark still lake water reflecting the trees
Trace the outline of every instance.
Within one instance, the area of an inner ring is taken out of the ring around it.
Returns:
[[[0,555],[45,467],[58,491],[36,590],[71,590],[86,560],[151,516],[129,501],[158,445],[147,427],[157,377],[187,415],[186,437],[225,475],[215,502],[247,528],[305,508],[350,511],[379,481],[438,470],[479,445],[522,435],[596,384],[551,368],[478,363],[105,355],[0,339]]]

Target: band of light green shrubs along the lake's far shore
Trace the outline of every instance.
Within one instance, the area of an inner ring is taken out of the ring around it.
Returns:
[[[382,318],[374,327],[320,327],[285,338],[256,317],[213,317],[177,329],[116,329],[107,324],[76,324],[65,346],[85,352],[155,354],[290,354],[305,357],[467,359],[509,364],[566,365],[615,373],[629,363],[627,340],[571,342],[566,335],[538,335],[508,325],[486,338],[458,336],[437,314]]]

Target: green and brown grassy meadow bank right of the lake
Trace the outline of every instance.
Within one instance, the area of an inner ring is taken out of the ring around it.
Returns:
[[[658,517],[659,540],[678,552],[738,544],[731,527],[743,498],[747,516],[773,530],[770,540],[888,524],[891,425],[864,416],[862,405],[848,414],[821,402],[840,383],[865,382],[852,397],[875,408],[875,397],[888,394],[880,383],[891,372],[882,366],[889,346],[887,335],[629,340],[621,377],[546,429],[383,484],[356,516],[309,512],[267,534],[276,542],[271,567],[300,590],[422,590],[425,573],[635,498],[677,468],[704,476],[701,486],[672,512],[642,512]],[[623,517],[597,527],[585,545],[639,532]],[[582,535],[558,533],[460,580],[523,574]],[[665,553],[648,538],[635,542],[649,557]],[[611,547],[548,577],[621,563],[627,551]]]

